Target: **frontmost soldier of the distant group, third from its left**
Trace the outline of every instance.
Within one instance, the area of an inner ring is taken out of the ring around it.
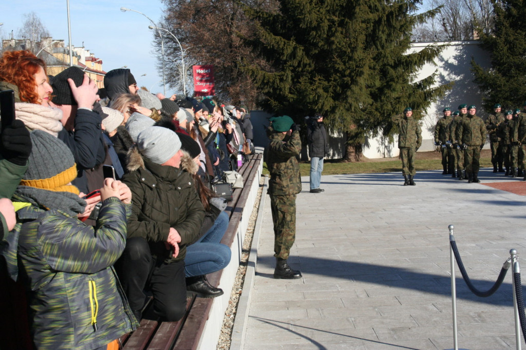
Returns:
[[[486,142],[487,133],[484,121],[477,116],[477,107],[469,106],[468,115],[461,119],[456,132],[459,145],[464,150],[468,183],[480,182],[480,151]]]

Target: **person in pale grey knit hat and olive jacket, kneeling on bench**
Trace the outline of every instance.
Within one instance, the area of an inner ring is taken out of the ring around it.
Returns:
[[[186,246],[199,239],[205,210],[194,180],[180,169],[180,147],[179,137],[169,129],[141,131],[130,153],[130,173],[123,178],[133,194],[133,207],[118,270],[138,319],[146,287],[159,316],[178,321],[185,314]]]

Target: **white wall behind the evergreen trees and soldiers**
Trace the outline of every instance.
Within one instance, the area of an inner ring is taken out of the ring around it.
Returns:
[[[430,45],[430,43],[413,43],[410,52],[419,52],[428,45]],[[434,150],[434,126],[437,120],[442,117],[444,107],[450,107],[451,110],[454,111],[457,110],[457,107],[461,104],[481,106],[482,94],[478,86],[473,83],[474,76],[470,70],[471,58],[474,58],[482,67],[490,66],[489,54],[478,46],[477,41],[434,43],[432,45],[445,45],[445,47],[433,64],[426,64],[422,67],[415,81],[422,80],[435,71],[438,71],[436,86],[447,84],[450,81],[454,81],[454,86],[444,97],[437,102],[432,102],[426,110],[426,117],[421,120],[422,147],[419,149],[420,152]],[[485,118],[488,114],[479,108],[477,115]],[[265,134],[265,129],[268,126],[268,118],[270,115],[264,111],[250,111],[250,116],[252,126],[254,127],[254,144],[256,146],[266,147],[268,145],[268,139]],[[332,135],[330,136],[329,144],[331,146],[329,158],[343,157],[345,137]],[[486,145],[485,147],[489,146]],[[398,154],[396,139],[395,142],[389,143],[387,140],[379,137],[366,138],[365,145],[363,146],[363,155],[367,158],[396,157]],[[308,159],[305,147],[301,158],[304,160]]]

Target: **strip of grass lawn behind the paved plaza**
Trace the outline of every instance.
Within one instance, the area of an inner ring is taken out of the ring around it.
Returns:
[[[491,151],[482,150],[480,156],[480,167],[491,167]],[[300,172],[302,176],[310,173],[310,162],[300,162]],[[417,171],[422,170],[442,170],[441,155],[439,152],[418,152],[415,162]],[[401,172],[402,162],[398,157],[367,159],[363,157],[360,162],[346,163],[338,159],[325,160],[323,162],[322,175],[338,174],[363,174],[371,172]],[[268,174],[267,164],[263,164],[263,173]]]

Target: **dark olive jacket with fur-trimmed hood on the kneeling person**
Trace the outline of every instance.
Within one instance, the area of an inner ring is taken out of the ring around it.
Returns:
[[[149,161],[137,148],[130,151],[128,171],[122,180],[133,195],[128,238],[143,237],[148,242],[159,243],[150,244],[158,259],[183,260],[186,246],[199,239],[205,217],[194,180],[184,170]],[[164,245],[172,227],[181,236],[177,258],[171,258]]]

